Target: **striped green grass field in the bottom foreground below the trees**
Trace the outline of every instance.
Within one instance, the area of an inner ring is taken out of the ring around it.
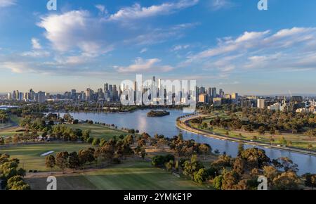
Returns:
[[[27,178],[32,189],[46,189],[46,176]],[[154,168],[150,162],[129,161],[103,170],[78,172],[57,177],[60,190],[192,190],[207,189],[190,179],[178,178],[170,172]]]

